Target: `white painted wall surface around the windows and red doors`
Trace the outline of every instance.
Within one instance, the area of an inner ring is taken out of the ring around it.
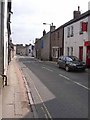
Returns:
[[[79,57],[79,46],[83,46],[83,61],[86,61],[86,47],[84,42],[88,41],[88,32],[79,34],[80,32],[80,22],[88,22],[88,17],[81,19],[73,24],[70,24],[64,28],[64,55],[67,55],[67,47],[73,47],[73,55]],[[73,25],[73,37],[67,37],[67,27]]]

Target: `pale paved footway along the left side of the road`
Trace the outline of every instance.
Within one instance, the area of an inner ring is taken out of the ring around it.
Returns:
[[[34,118],[16,58],[13,58],[8,66],[7,86],[0,87],[0,120],[2,118]]]

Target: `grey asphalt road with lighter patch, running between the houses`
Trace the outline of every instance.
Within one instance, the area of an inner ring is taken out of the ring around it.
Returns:
[[[88,118],[88,71],[66,72],[52,62],[21,57],[39,118]]]

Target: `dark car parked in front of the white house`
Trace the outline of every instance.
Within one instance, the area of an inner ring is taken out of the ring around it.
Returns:
[[[80,61],[76,56],[61,56],[57,62],[59,68],[64,68],[66,71],[70,70],[85,70],[86,65]]]

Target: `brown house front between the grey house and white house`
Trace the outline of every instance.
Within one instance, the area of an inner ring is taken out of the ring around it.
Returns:
[[[64,27],[60,26],[51,33],[52,60],[57,61],[63,55],[64,50]]]

